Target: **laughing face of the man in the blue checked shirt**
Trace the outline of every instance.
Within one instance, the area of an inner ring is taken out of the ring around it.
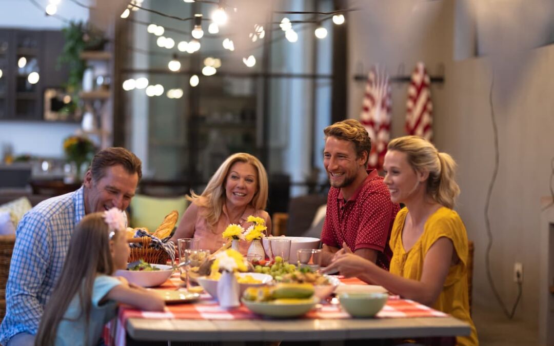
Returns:
[[[104,172],[104,177],[96,182],[92,173],[86,172],[83,182],[85,214],[109,210],[114,206],[125,210],[135,195],[137,184],[139,184],[137,173],[128,173],[120,164],[106,167]]]

